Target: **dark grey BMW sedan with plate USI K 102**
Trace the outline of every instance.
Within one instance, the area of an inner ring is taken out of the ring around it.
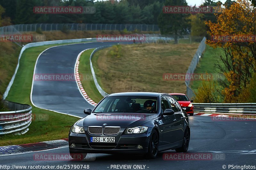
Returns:
[[[69,132],[71,157],[79,153],[138,153],[155,158],[165,150],[187,152],[187,113],[169,94],[123,92],[106,96]]]

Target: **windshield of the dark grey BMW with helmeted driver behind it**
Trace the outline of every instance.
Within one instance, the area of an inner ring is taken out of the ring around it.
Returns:
[[[147,96],[106,97],[93,113],[156,113],[157,98]]]

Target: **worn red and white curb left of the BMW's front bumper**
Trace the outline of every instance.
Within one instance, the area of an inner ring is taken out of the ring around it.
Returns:
[[[68,147],[68,138],[31,144],[0,146],[0,156],[21,154],[27,152],[39,152],[63,147]]]

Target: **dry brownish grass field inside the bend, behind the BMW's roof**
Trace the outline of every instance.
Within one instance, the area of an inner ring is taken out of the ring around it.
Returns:
[[[92,63],[99,84],[114,92],[186,92],[185,80],[164,80],[164,73],[183,74],[199,43],[117,45],[98,51]]]

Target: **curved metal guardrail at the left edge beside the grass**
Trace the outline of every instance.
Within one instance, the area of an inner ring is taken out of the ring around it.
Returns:
[[[0,135],[26,133],[32,121],[32,107],[7,100],[3,100],[3,103],[15,111],[0,112]]]

